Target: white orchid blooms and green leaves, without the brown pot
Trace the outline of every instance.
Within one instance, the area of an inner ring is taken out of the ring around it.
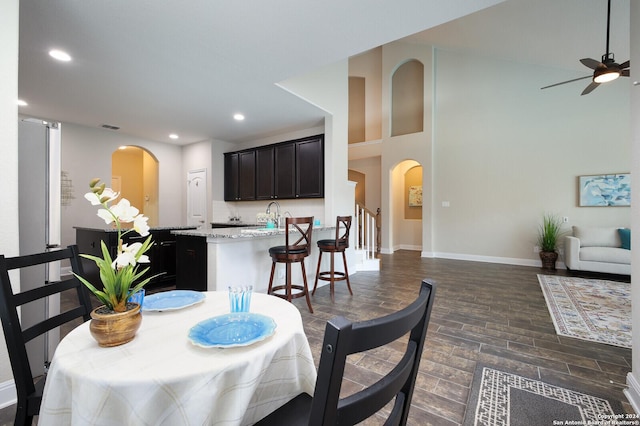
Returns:
[[[115,259],[111,258],[109,249],[104,241],[101,241],[102,257],[82,254],[81,256],[90,259],[96,263],[100,270],[100,281],[102,281],[103,289],[99,290],[85,278],[76,275],[78,279],[91,292],[104,303],[107,309],[115,312],[125,312],[127,310],[127,299],[131,294],[141,290],[153,278],[145,278],[140,280],[148,271],[149,267],[138,270],[138,264],[149,263],[149,257],[145,254],[152,246],[153,241],[149,235],[149,220],[140,211],[133,207],[129,200],[121,198],[118,203],[110,205],[120,196],[119,192],[107,188],[104,183],[100,183],[100,179],[92,179],[89,183],[91,191],[86,193],[84,197],[94,206],[102,206],[98,210],[98,216],[105,221],[107,225],[115,225],[118,232],[118,250]],[[123,229],[123,223],[133,223],[128,229]],[[122,237],[135,231],[141,237],[148,235],[144,243],[124,244]]]

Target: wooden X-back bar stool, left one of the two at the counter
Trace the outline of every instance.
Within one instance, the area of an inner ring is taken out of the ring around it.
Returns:
[[[309,287],[307,286],[307,272],[304,268],[304,259],[311,253],[311,232],[313,231],[312,217],[287,217],[285,218],[285,245],[271,247],[269,255],[271,256],[271,277],[269,278],[269,289],[267,294],[281,297],[291,302],[291,299],[298,297],[306,297],[309,312],[313,313],[311,300],[309,299]],[[291,231],[298,231],[298,233]],[[297,240],[296,240],[297,238]],[[294,241],[290,244],[290,241]],[[276,263],[286,264],[285,283],[283,285],[273,286],[273,274],[276,270]],[[291,264],[300,263],[302,267],[303,285],[291,284]],[[283,292],[278,292],[284,290]],[[293,293],[292,290],[298,290]]]

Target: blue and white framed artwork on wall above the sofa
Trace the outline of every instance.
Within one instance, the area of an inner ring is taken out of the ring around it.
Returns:
[[[629,173],[578,176],[580,207],[620,207],[631,205]]]

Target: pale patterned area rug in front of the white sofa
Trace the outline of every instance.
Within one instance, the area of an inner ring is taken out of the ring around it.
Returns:
[[[629,283],[558,275],[538,281],[559,335],[631,348]]]

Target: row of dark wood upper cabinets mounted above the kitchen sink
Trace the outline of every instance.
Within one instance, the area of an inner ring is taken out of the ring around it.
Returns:
[[[324,197],[324,135],[224,154],[225,201]]]

